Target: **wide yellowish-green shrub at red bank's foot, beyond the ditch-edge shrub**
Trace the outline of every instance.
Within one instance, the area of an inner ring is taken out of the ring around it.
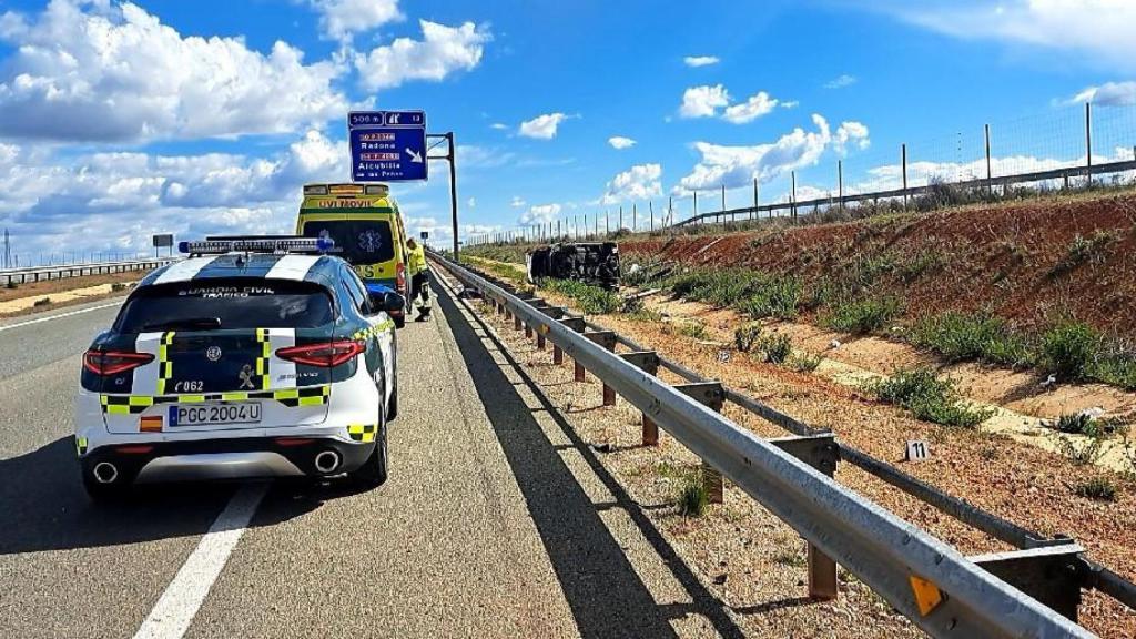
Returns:
[[[1031,359],[1029,345],[1005,321],[982,313],[944,313],[925,317],[908,331],[908,340],[949,362],[978,359],[1020,366]]]

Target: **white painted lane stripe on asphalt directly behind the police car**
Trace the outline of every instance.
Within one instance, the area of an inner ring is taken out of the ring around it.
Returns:
[[[134,639],[181,639],[185,636],[266,492],[267,482],[245,484],[233,495],[166,587]]]

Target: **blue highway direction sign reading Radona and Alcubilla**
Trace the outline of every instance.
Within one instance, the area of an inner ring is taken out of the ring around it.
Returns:
[[[426,180],[424,111],[348,114],[353,182]]]

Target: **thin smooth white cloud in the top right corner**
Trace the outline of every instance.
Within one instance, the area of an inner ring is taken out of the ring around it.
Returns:
[[[1130,0],[1002,0],[997,3],[899,2],[872,5],[928,30],[964,40],[996,40],[1136,69],[1136,2]]]

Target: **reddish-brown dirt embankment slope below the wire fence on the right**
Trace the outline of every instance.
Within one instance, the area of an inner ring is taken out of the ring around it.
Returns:
[[[870,279],[908,318],[993,312],[1022,329],[1074,317],[1136,339],[1136,197],[1058,198],[726,235],[632,238],[640,259],[795,275],[805,291]],[[808,294],[808,293],[807,293]]]

